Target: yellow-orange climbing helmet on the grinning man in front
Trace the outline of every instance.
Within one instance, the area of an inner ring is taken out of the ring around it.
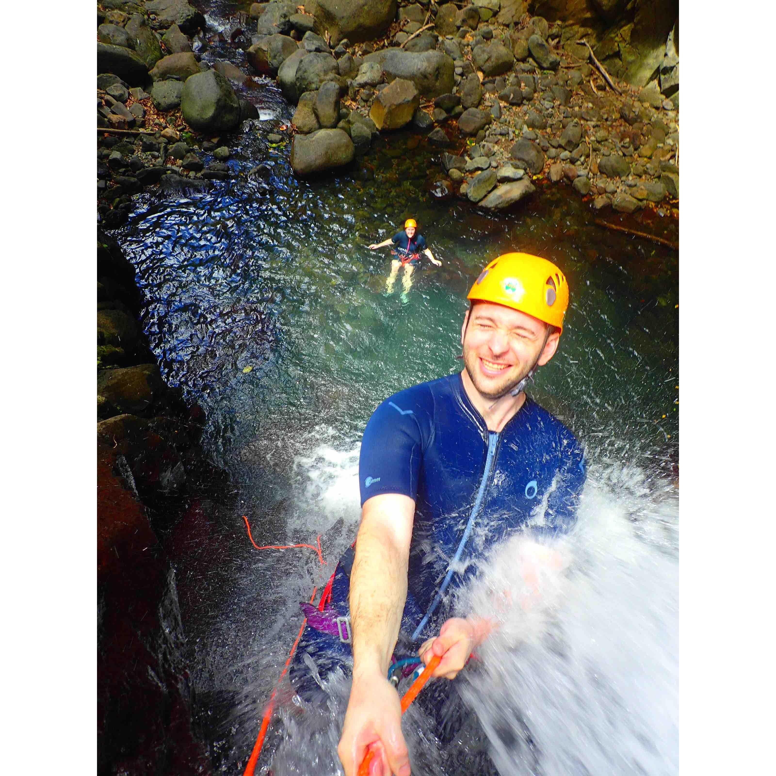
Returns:
[[[546,258],[505,253],[483,269],[467,299],[503,304],[563,331],[569,286],[563,272]]]

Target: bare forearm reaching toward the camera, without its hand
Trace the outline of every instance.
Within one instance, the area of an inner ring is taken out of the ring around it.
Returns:
[[[354,674],[385,674],[407,599],[407,553],[382,525],[365,525],[350,577]]]

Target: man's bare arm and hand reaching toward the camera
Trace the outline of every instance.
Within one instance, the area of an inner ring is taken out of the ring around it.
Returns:
[[[350,576],[353,684],[337,749],[345,776],[355,776],[370,744],[383,774],[410,773],[399,695],[386,677],[407,599],[414,511],[400,494],[374,496],[362,509]]]

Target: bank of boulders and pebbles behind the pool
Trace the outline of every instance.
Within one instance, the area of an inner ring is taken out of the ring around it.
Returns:
[[[405,129],[438,147],[445,192],[480,207],[510,206],[539,181],[570,185],[595,210],[675,211],[678,23],[670,2],[654,4],[646,19],[638,2],[595,2],[587,16],[565,5],[253,3],[232,38],[252,74],[276,78],[296,105],[292,126],[268,127],[275,142],[291,140],[296,175],[351,165],[377,133]],[[185,0],[98,8],[98,127],[107,130],[98,210],[110,224],[144,186],[234,176],[221,136],[258,114],[234,89],[247,73],[199,60],[193,47],[204,17]],[[545,8],[568,20],[528,13]],[[639,24],[663,42],[639,49]]]

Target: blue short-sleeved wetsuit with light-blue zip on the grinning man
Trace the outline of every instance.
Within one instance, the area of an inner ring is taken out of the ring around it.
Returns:
[[[517,532],[567,532],[584,480],[576,438],[530,397],[498,433],[488,430],[460,374],[383,401],[364,431],[359,485],[362,504],[379,494],[415,501],[396,656],[414,654],[438,633],[452,616],[456,590],[497,542]],[[341,617],[348,615],[352,562],[349,549],[334,573],[331,605]],[[308,627],[292,679],[305,652],[323,676],[350,655],[350,645]]]

